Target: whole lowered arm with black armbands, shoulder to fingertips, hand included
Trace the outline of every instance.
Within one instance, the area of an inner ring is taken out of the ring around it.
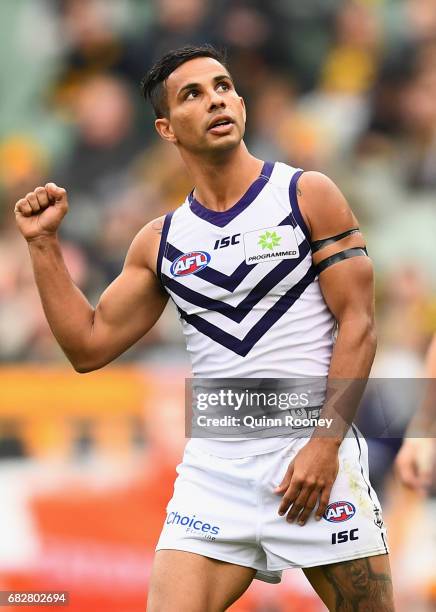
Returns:
[[[297,195],[312,243],[358,227],[345,198],[326,176],[303,174]],[[362,235],[356,232],[321,245],[313,261],[319,264],[336,253],[364,246]],[[329,503],[339,468],[338,449],[357,410],[376,347],[371,260],[362,254],[333,263],[319,272],[319,283],[338,326],[321,415],[331,418],[332,426],[329,430],[315,428],[276,489],[283,495],[279,514],[287,514],[288,521],[298,520],[300,525],[317,503],[316,518],[321,519]]]

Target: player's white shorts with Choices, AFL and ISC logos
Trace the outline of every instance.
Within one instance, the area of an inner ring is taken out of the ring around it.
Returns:
[[[312,513],[300,526],[279,516],[281,498],[273,489],[308,440],[239,459],[210,455],[188,442],[156,550],[252,567],[257,579],[275,583],[286,568],[386,554],[380,503],[368,478],[368,447],[355,433],[341,444],[324,517],[316,521]]]

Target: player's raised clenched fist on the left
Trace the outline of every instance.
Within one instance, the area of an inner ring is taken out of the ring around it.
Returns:
[[[26,240],[55,235],[68,212],[67,192],[54,183],[47,183],[18,200],[14,212]]]

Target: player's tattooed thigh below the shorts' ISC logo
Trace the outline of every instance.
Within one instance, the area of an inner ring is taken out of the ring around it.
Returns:
[[[388,555],[303,571],[330,612],[394,612]]]

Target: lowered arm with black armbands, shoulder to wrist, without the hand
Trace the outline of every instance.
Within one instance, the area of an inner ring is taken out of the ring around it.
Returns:
[[[312,242],[358,227],[344,196],[326,176],[303,174],[298,188]],[[318,264],[345,249],[364,246],[362,234],[355,233],[321,248],[313,260]],[[319,284],[338,326],[322,416],[334,419],[328,433],[340,444],[355,416],[375,356],[372,262],[369,257],[356,256],[334,263],[320,272]],[[316,430],[314,435],[322,433]]]

